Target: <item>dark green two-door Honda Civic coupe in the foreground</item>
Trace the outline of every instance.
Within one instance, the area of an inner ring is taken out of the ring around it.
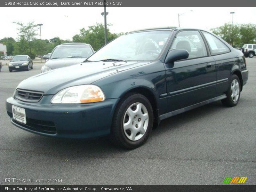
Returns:
[[[12,124],[62,138],[109,135],[141,146],[160,120],[221,100],[236,106],[248,79],[244,55],[199,29],[127,33],[84,62],[22,81],[6,100]]]

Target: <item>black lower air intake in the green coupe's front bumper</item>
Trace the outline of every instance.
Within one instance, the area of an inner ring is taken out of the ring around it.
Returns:
[[[26,118],[27,124],[20,123],[12,118],[12,121],[22,127],[25,127],[29,130],[48,133],[48,134],[55,134],[56,127],[55,124],[51,121],[42,121],[37,119]]]

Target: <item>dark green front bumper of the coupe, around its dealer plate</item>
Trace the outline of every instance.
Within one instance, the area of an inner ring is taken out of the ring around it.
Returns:
[[[119,99],[88,104],[51,104],[51,99],[52,95],[48,95],[37,103],[29,103],[11,97],[6,100],[6,110],[12,124],[40,135],[92,138],[110,133],[112,116]],[[25,109],[27,124],[13,119],[12,105]]]

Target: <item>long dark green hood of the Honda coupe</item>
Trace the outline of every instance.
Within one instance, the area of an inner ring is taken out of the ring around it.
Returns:
[[[44,94],[52,95],[67,87],[92,84],[104,77],[147,63],[149,63],[149,61],[85,62],[29,77],[23,80],[17,88],[40,91],[44,92]]]

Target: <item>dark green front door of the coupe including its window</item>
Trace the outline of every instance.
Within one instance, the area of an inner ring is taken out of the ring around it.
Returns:
[[[189,57],[165,64],[168,112],[211,99],[216,88],[215,60],[199,31],[180,31],[172,42],[173,49],[185,49]]]

